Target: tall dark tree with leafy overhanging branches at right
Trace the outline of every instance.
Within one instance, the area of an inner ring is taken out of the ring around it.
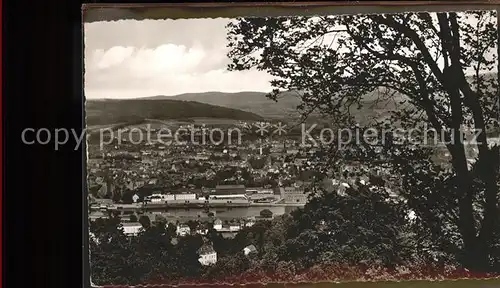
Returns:
[[[318,111],[336,127],[379,132],[323,145],[329,157],[315,169],[354,162],[357,176],[383,169],[417,215],[422,249],[475,270],[499,268],[499,154],[486,133],[498,126],[494,11],[248,18],[228,29],[229,68],[273,75],[271,98],[297,91],[304,117]],[[377,113],[355,119],[366,105]],[[433,140],[429,129],[442,141],[423,145]],[[475,142],[464,144],[464,129],[480,132]],[[477,151],[473,161],[468,148]],[[446,163],[433,158],[439,149],[450,155]]]

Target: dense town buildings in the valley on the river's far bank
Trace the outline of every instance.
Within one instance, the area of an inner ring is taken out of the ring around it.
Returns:
[[[307,159],[315,150],[301,147],[299,140],[243,139],[239,144],[166,146],[132,144],[123,139],[104,147],[90,142],[88,189],[93,198],[116,203],[142,202],[153,194],[151,202],[244,194],[256,195],[253,200],[259,202],[305,203],[295,192],[287,197],[288,191],[297,191],[292,187],[309,181]],[[290,189],[280,190],[287,187]],[[132,196],[124,199],[130,193]],[[157,197],[160,194],[164,196]]]

